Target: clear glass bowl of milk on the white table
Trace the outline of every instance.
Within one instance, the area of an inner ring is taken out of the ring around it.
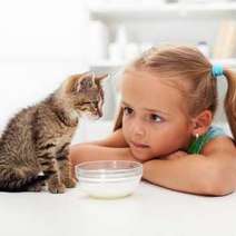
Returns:
[[[128,160],[98,160],[76,166],[80,188],[95,198],[131,195],[142,176],[142,165]]]

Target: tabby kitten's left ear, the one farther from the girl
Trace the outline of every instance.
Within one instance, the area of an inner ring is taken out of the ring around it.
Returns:
[[[75,90],[86,91],[91,89],[95,85],[95,78],[96,76],[94,71],[82,73],[76,83]]]

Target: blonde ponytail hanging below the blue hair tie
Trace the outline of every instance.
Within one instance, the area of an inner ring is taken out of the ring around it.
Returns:
[[[236,73],[225,69],[224,75],[228,82],[228,89],[225,97],[225,112],[232,134],[236,140]]]

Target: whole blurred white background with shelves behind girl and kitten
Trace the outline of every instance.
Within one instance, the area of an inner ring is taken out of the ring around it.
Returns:
[[[122,66],[151,46],[197,46],[236,69],[234,0],[0,0],[0,131],[22,107],[52,92],[70,73],[110,72],[105,116],[83,119],[75,142],[111,131]],[[218,81],[224,98],[225,81]],[[225,127],[219,106],[215,122]]]

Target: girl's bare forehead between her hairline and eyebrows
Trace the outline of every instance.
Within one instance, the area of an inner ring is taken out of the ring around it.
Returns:
[[[183,94],[174,85],[148,71],[128,71],[124,73],[120,90],[122,100],[130,106],[174,114],[185,104]]]

